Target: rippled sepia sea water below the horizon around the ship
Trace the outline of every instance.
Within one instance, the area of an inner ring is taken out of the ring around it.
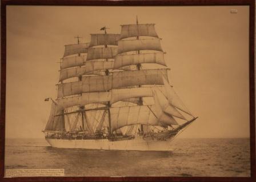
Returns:
[[[50,147],[7,139],[5,169],[65,169],[65,176],[250,176],[250,140],[175,139],[170,152]]]

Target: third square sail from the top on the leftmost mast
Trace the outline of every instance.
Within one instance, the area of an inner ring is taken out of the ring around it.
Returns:
[[[61,70],[61,74],[59,75],[59,82],[68,78],[82,76],[85,74],[85,70],[86,70],[85,67],[75,67],[75,68],[68,68],[65,70]]]

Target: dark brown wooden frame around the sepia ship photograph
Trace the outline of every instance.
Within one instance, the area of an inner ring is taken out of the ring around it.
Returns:
[[[250,83],[250,177],[4,177],[5,113],[6,113],[6,6],[249,6],[249,83]],[[1,1],[1,121],[0,121],[0,181],[256,181],[255,177],[255,1],[254,0],[2,0]]]

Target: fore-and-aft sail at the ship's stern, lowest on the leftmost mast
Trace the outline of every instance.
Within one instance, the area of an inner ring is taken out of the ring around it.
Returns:
[[[62,116],[55,116],[61,114],[61,112],[57,104],[51,104],[50,116],[45,131],[65,131],[65,122]]]

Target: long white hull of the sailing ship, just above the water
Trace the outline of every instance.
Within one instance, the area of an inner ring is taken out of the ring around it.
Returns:
[[[170,151],[171,140],[157,140],[153,137],[137,136],[135,139],[110,141],[108,139],[49,139],[46,141],[56,148],[85,148],[128,151]]]

